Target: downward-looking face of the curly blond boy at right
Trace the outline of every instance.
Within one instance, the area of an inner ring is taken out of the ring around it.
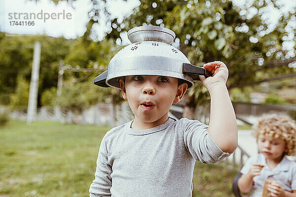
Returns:
[[[284,152],[287,151],[286,143],[281,138],[271,138],[268,134],[260,134],[258,138],[259,152],[266,160],[280,162]]]

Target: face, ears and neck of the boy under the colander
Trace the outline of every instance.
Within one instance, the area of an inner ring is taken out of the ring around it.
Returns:
[[[174,77],[136,75],[120,80],[120,87],[122,97],[128,100],[135,114],[132,127],[149,129],[167,121],[172,103],[182,99],[187,84],[178,86],[178,79]]]

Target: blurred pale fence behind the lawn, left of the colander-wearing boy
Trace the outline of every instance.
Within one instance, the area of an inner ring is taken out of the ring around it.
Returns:
[[[26,121],[27,109],[11,109],[1,105],[0,111],[6,111],[11,119]],[[116,114],[114,114],[114,112]],[[98,103],[81,112],[63,109],[58,106],[42,106],[37,108],[35,121],[52,121],[76,124],[121,125],[134,118],[127,102],[121,105]]]

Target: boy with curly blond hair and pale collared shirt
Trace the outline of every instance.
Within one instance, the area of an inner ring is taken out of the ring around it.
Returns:
[[[238,188],[251,197],[261,197],[265,180],[271,197],[296,197],[296,163],[286,155],[296,153],[295,121],[271,114],[259,120],[254,129],[259,154],[248,159],[241,169]]]

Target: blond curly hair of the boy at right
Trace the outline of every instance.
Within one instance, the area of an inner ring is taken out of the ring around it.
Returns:
[[[264,114],[259,122],[253,126],[258,140],[259,134],[268,134],[271,138],[281,138],[287,145],[286,155],[296,154],[296,124],[289,116],[284,114]]]

